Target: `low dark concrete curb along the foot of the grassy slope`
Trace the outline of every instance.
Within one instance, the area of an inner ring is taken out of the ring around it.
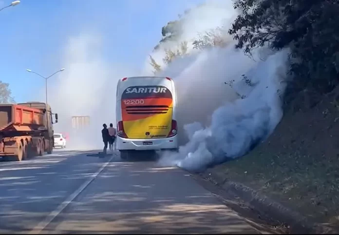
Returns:
[[[337,234],[331,228],[318,223],[311,222],[305,216],[283,206],[282,204],[261,195],[254,189],[241,183],[223,180],[214,174],[211,169],[201,174],[201,177],[212,181],[222,187],[223,190],[238,196],[240,199],[254,207],[264,215],[270,216],[273,220],[288,225],[291,234]]]

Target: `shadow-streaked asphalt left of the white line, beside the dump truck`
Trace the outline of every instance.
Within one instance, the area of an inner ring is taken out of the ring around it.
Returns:
[[[0,164],[0,234],[34,226],[108,159],[62,151]]]

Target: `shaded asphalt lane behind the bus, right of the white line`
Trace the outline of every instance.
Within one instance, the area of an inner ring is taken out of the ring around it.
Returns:
[[[258,234],[177,168],[113,162],[44,233]]]

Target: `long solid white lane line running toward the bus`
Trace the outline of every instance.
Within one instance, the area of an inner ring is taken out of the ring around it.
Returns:
[[[57,217],[67,206],[70,204],[76,196],[78,196],[93,180],[102,172],[102,170],[111,162],[114,156],[112,156],[97,172],[95,172],[90,178],[84,182],[73,194],[66,198],[56,210],[51,212],[49,215],[46,216],[44,220],[42,220],[36,227],[34,227],[28,234],[39,234],[42,230],[44,230],[52,220]]]

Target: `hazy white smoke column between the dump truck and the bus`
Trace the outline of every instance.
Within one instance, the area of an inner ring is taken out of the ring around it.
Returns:
[[[107,63],[102,49],[97,34],[70,38],[60,62],[66,69],[50,85],[49,103],[59,116],[55,133],[69,134],[68,148],[102,148],[102,124],[115,126],[116,84],[131,75],[131,69]],[[89,116],[90,123],[76,129],[72,116]]]

